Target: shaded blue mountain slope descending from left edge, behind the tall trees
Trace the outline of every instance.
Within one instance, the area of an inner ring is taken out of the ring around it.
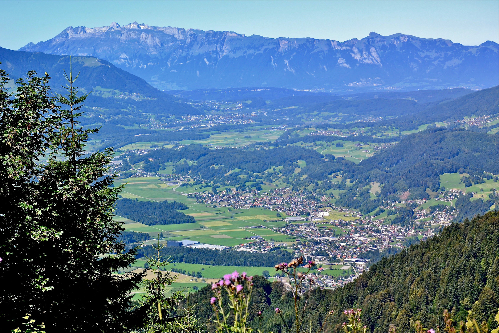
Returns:
[[[47,72],[52,78],[50,85],[57,92],[65,92],[64,70],[69,72],[69,56],[42,52],[13,51],[0,47],[0,68],[12,79],[25,77],[29,70],[39,75]],[[82,92],[90,92],[86,105],[104,109],[133,109],[152,113],[199,113],[188,104],[175,102],[178,98],[151,86],[144,79],[117,68],[106,60],[90,56],[72,58],[73,73],[80,73],[77,86]]]

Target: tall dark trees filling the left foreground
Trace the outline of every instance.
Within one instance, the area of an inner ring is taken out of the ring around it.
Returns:
[[[123,228],[112,219],[121,190],[106,174],[112,149],[84,150],[97,129],[78,124],[88,94],[77,96],[77,77],[70,70],[67,93],[51,96],[48,75],[30,72],[12,102],[1,81],[1,199],[10,202],[1,232],[12,230],[0,244],[0,318],[12,321],[5,329],[26,313],[48,332],[125,332],[132,325],[129,295],[143,274],[114,274],[136,251],[124,252]],[[48,161],[39,162],[45,154]]]

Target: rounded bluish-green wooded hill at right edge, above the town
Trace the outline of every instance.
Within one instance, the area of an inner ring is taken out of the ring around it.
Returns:
[[[392,187],[402,180],[408,189],[435,191],[440,187],[439,175],[443,173],[464,169],[498,174],[498,160],[499,135],[435,128],[407,136],[347,173],[348,178],[356,180],[380,181]],[[395,190],[402,188],[385,188],[385,193]]]

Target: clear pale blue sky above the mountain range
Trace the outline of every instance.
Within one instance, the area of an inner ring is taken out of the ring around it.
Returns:
[[[0,46],[17,49],[66,27],[121,25],[230,30],[344,41],[375,31],[499,42],[499,1],[0,1]]]

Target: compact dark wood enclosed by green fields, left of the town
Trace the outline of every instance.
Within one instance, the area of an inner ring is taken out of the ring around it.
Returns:
[[[116,215],[148,226],[157,224],[194,223],[196,220],[177,210],[189,209],[181,202],[161,202],[120,199],[116,201]]]

